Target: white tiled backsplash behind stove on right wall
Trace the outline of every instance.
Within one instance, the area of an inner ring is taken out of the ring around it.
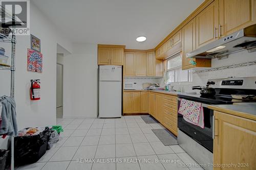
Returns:
[[[212,59],[211,68],[244,63],[256,60],[256,52],[248,53],[243,51],[240,53],[229,55],[227,59]],[[215,71],[207,71],[193,74],[193,82],[174,83],[174,89],[181,87],[182,91],[193,91],[192,86],[205,86],[208,79],[227,78],[227,77],[251,77],[256,76],[256,65],[242,66],[236,68],[219,69]],[[161,85],[163,85],[161,80]],[[199,93],[199,90],[197,91]]]

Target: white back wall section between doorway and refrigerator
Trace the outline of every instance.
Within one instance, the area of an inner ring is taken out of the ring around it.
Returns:
[[[64,56],[63,117],[97,116],[97,44],[73,44]]]

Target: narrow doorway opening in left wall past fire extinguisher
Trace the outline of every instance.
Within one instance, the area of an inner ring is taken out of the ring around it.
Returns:
[[[61,54],[57,54],[57,66],[56,66],[56,117],[63,117],[63,64],[59,63],[58,58],[63,57]]]

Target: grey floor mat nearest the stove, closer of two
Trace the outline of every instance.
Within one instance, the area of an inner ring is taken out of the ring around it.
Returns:
[[[152,131],[164,145],[178,144],[177,137],[170,133],[167,129],[152,129]]]

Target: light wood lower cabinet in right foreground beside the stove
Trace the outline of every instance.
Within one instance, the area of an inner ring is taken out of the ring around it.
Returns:
[[[256,168],[256,121],[215,111],[214,164]],[[214,167],[214,170],[230,169]],[[232,168],[231,168],[232,169]]]

